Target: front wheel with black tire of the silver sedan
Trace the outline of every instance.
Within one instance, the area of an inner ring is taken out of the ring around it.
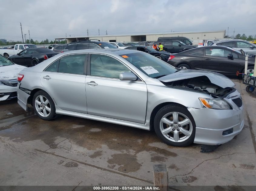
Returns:
[[[167,145],[185,147],[194,142],[194,119],[187,108],[179,104],[162,107],[155,116],[154,129]]]

